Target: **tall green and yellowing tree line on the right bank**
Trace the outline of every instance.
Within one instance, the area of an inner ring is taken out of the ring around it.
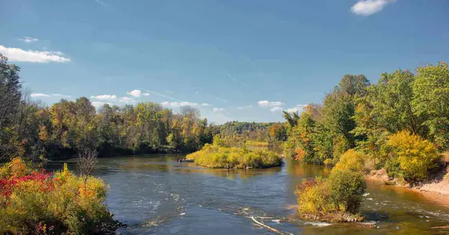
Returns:
[[[405,171],[399,163],[401,153],[423,154],[429,147],[439,153],[448,150],[448,64],[385,72],[374,84],[363,75],[346,74],[323,103],[284,116],[286,156],[335,165],[344,152],[354,149],[367,154],[375,168]],[[425,159],[417,154],[417,161]]]

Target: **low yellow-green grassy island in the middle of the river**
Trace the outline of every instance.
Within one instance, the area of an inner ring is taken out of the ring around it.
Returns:
[[[282,165],[280,156],[269,150],[248,150],[239,147],[222,147],[206,144],[201,150],[187,155],[197,165],[210,168],[267,168]]]

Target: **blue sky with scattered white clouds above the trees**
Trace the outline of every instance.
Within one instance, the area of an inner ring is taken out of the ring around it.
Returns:
[[[48,105],[86,96],[283,121],[343,74],[376,82],[447,61],[448,11],[446,0],[0,0],[0,53]]]

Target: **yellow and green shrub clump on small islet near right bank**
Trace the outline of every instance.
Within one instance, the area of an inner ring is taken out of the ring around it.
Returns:
[[[361,221],[359,207],[366,190],[363,180],[365,155],[348,150],[341,155],[327,180],[303,180],[298,186],[298,212],[323,221]]]

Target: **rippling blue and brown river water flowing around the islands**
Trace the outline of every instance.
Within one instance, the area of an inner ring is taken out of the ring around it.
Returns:
[[[265,170],[222,170],[178,163],[182,155],[122,156],[99,159],[93,174],[110,190],[114,218],[128,224],[118,234],[445,234],[449,197],[426,197],[399,187],[367,181],[361,212],[374,227],[301,220],[295,211],[296,185],[326,176],[329,169],[286,160]],[[48,163],[60,169],[63,161]],[[76,164],[68,161],[69,168]]]

